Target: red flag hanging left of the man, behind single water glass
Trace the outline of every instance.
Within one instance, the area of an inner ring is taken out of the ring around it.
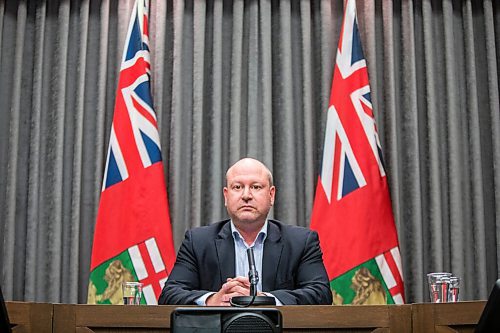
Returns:
[[[150,87],[148,7],[130,20],[90,263],[89,303],[121,303],[121,282],[144,283],[157,304],[175,261]]]

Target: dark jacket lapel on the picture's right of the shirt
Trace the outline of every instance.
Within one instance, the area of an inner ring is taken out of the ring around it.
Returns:
[[[276,224],[269,220],[267,237],[264,242],[264,253],[262,256],[262,290],[274,290],[276,277],[280,266],[283,243],[281,242],[281,232]]]

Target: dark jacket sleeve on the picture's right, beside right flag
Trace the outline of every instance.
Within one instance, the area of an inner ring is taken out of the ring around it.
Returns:
[[[332,304],[330,283],[316,231],[310,230],[296,269],[294,289],[270,291],[283,305]]]

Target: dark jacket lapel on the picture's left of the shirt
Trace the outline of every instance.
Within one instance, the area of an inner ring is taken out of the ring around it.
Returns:
[[[217,250],[217,260],[219,261],[219,271],[221,277],[220,286],[222,286],[228,277],[234,277],[236,271],[234,239],[231,235],[230,222],[224,224],[221,231],[217,235],[217,238],[215,239],[215,248]]]

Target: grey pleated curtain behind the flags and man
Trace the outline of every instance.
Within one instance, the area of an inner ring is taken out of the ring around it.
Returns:
[[[85,302],[132,1],[0,0],[0,284]],[[358,1],[406,299],[452,271],[486,298],[500,257],[494,0]],[[153,94],[176,246],[226,216],[226,168],[263,160],[273,215],[309,224],[341,0],[152,1]],[[363,232],[360,230],[360,232]]]

